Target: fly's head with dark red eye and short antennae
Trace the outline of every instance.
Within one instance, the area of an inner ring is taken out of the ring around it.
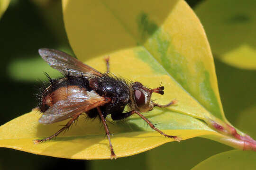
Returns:
[[[130,106],[132,109],[146,112],[154,108],[155,103],[151,100],[152,93],[164,94],[164,86],[160,86],[155,89],[146,88],[139,82],[133,83],[131,88]]]

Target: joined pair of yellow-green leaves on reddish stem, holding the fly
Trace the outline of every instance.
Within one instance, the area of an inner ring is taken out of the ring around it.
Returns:
[[[161,104],[179,101],[145,113],[153,123],[159,123],[159,129],[183,140],[202,136],[239,149],[256,148],[252,139],[244,146],[243,140],[249,139],[238,135],[224,116],[206,35],[183,0],[160,4],[155,0],[63,0],[63,10],[68,38],[78,59],[105,72],[103,57],[110,55],[113,74],[151,88],[162,82],[165,95],[155,94],[153,99]],[[1,126],[0,146],[72,159],[110,158],[104,129],[96,120],[84,122],[80,118],[64,135],[34,145],[32,139],[50,136],[58,125],[66,123],[40,125],[39,117],[34,110]],[[173,141],[152,133],[136,115],[108,124],[118,157]]]

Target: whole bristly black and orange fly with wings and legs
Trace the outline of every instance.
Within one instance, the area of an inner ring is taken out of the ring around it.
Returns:
[[[110,140],[110,131],[106,123],[107,115],[113,120],[125,119],[137,114],[144,119],[151,128],[160,134],[180,141],[178,136],[169,136],[157,129],[141,112],[157,107],[168,107],[175,103],[160,105],[151,100],[152,93],[164,94],[164,86],[149,89],[139,82],[130,83],[109,73],[102,74],[83,64],[72,56],[57,50],[40,49],[41,57],[52,67],[64,74],[63,78],[53,80],[48,76],[51,85],[41,89],[38,107],[43,112],[39,123],[51,124],[65,119],[68,123],[54,135],[45,139],[35,140],[35,144],[50,140],[67,129],[82,113],[89,118],[99,117],[105,127],[109,139],[110,158],[116,158]],[[109,62],[107,61],[107,68]],[[128,105],[130,111],[124,112]]]

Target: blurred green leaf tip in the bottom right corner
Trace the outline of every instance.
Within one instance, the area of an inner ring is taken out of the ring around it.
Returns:
[[[228,151],[211,156],[192,170],[255,170],[256,152]]]

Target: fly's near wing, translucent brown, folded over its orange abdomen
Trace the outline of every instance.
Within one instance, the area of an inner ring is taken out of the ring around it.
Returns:
[[[101,97],[94,91],[78,92],[68,96],[65,100],[56,102],[43,113],[39,123],[51,124],[62,121],[71,118],[74,114],[86,112],[108,102],[110,100]]]

